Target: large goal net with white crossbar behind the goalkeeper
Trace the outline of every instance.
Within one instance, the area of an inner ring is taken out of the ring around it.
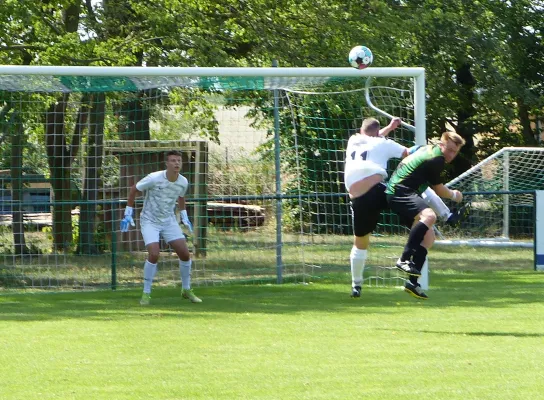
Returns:
[[[399,116],[395,140],[423,143],[423,69],[0,67],[0,287],[140,285],[142,199],[136,228],[119,222],[128,188],[172,149],[190,182],[194,284],[349,284],[344,149],[369,116]],[[403,278],[404,233],[382,216],[368,284]],[[161,251],[157,283],[179,283]]]

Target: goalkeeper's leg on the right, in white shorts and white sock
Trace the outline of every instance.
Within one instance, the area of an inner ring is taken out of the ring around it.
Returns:
[[[191,253],[187,246],[185,235],[181,231],[177,222],[165,227],[162,235],[170,247],[176,252],[179,258],[179,273],[181,278],[181,295],[184,299],[189,299],[193,303],[201,303],[193,289],[191,289]]]

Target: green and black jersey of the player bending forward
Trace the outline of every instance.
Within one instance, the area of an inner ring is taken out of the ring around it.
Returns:
[[[446,160],[438,145],[422,146],[397,166],[385,193],[394,194],[397,186],[404,186],[421,194],[429,185],[442,183],[440,174],[445,164]]]

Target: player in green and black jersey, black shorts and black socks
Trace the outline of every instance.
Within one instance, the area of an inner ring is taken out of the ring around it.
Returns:
[[[437,216],[421,194],[429,186],[436,194],[455,202],[463,200],[463,194],[451,190],[441,182],[440,175],[445,164],[450,163],[459,153],[465,140],[454,132],[445,132],[436,145],[422,146],[404,158],[391,175],[385,193],[391,210],[399,215],[401,222],[410,228],[404,251],[396,263],[401,271],[414,270],[404,289],[411,295],[426,299],[417,276],[425,263],[428,250],[432,247],[435,234],[433,225]]]

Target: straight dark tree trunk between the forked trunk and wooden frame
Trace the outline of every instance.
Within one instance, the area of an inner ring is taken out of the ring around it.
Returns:
[[[98,200],[99,171],[102,167],[105,119],[104,93],[94,94],[91,98],[92,108],[89,117],[87,162],[83,181],[83,202],[79,214],[79,246],[78,254],[98,254],[94,240],[96,201]]]

